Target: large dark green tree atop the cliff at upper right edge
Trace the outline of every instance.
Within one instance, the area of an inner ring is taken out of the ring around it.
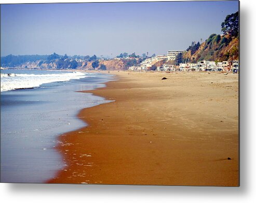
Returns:
[[[238,11],[227,15],[224,22],[221,23],[221,31],[223,34],[229,34],[232,37],[238,36],[239,29],[239,13]]]

